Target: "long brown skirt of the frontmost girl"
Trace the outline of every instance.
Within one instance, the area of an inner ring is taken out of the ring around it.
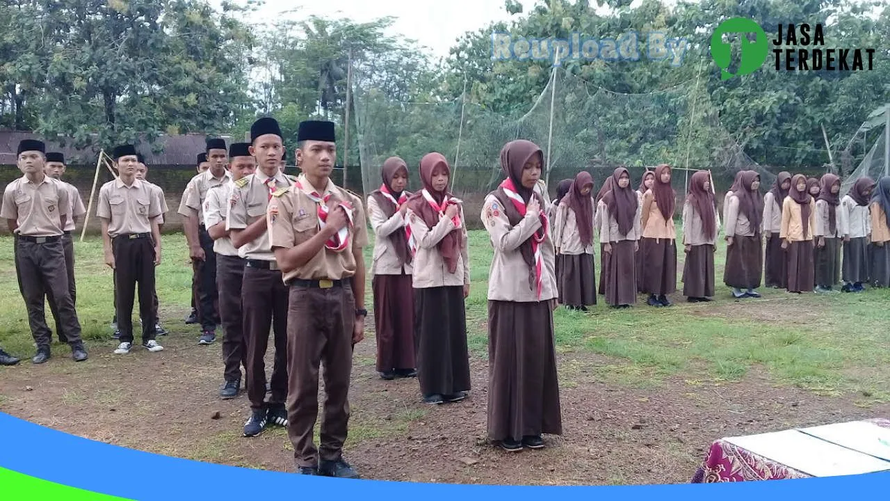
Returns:
[[[562,434],[549,301],[489,301],[489,439]]]

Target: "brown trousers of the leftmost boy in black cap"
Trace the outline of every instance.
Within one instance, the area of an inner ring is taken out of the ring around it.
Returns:
[[[37,348],[48,349],[53,341],[44,309],[47,294],[52,294],[55,299],[59,322],[68,342],[80,342],[80,322],[68,291],[68,271],[61,239],[44,243],[19,238],[16,241],[15,267],[20,277],[21,296],[28,308],[28,324]]]

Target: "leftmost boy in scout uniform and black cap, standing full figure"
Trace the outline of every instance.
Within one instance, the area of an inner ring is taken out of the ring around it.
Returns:
[[[61,237],[71,213],[69,190],[44,173],[46,146],[26,139],[19,143],[18,166],[23,177],[6,185],[0,218],[6,218],[16,238],[16,271],[21,295],[28,307],[28,324],[37,345],[32,361],[43,364],[53,341],[46,325],[44,301],[52,294],[60,318],[61,333],[71,346],[72,357],[86,360],[80,339],[80,322],[69,292],[68,270]],[[47,291],[48,289],[48,291]]]

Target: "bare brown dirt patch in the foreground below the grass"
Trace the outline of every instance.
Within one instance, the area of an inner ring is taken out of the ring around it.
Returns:
[[[769,315],[769,303],[750,308]],[[727,305],[727,311],[732,305]],[[718,311],[720,308],[716,308]],[[702,310],[702,314],[719,314]],[[173,327],[169,325],[168,327]],[[0,410],[34,423],[128,448],[218,464],[292,471],[284,430],[241,437],[247,397],[217,398],[220,346],[199,347],[183,326],[166,350],[111,354],[93,342],[75,364],[55,346],[46,365],[0,368]],[[715,439],[890,415],[852,398],[776,386],[762,371],[717,384],[668,379],[656,388],[603,382],[624,363],[583,351],[559,359],[564,435],[550,447],[506,454],[486,443],[488,367],[473,357],[470,398],[442,407],[419,401],[416,380],[384,382],[374,370],[373,334],[356,347],[346,458],[364,478],[422,482],[598,485],[682,483]],[[219,417],[214,419],[215,413]]]

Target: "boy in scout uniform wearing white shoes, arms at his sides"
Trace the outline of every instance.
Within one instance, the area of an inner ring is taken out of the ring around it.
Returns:
[[[139,159],[132,144],[117,146],[113,155],[119,177],[102,185],[96,216],[101,218],[105,264],[114,270],[117,327],[120,345],[116,355],[133,348],[133,303],[139,283],[142,346],[151,352],[164,349],[155,341],[155,267],[161,262],[161,208],[150,185],[136,179]]]

